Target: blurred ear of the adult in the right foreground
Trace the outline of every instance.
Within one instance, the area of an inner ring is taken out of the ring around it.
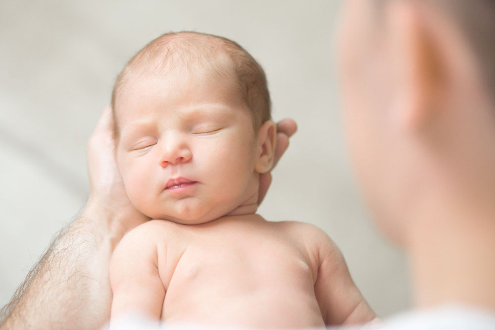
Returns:
[[[389,1],[387,45],[395,93],[391,120],[399,129],[417,129],[432,115],[441,84],[441,56],[424,24],[420,1]]]

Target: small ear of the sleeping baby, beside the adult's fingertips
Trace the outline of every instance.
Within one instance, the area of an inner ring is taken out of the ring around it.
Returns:
[[[256,165],[254,166],[256,172],[265,173],[272,168],[276,138],[277,126],[271,120],[265,121],[258,130],[257,157]]]

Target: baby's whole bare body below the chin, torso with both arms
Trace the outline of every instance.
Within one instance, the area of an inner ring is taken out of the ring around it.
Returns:
[[[375,318],[320,229],[258,215],[197,225],[152,220],[126,235],[110,268],[112,320],[308,328]]]

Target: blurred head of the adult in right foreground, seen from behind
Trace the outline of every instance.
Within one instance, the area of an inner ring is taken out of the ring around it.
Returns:
[[[493,1],[345,1],[350,149],[382,228],[406,243],[436,190],[486,196],[495,170]]]

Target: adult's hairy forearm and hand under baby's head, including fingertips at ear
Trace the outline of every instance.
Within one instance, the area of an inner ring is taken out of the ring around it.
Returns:
[[[99,329],[110,319],[109,264],[124,233],[149,220],[129,202],[114,158],[111,109],[103,110],[87,145],[90,198],[62,229],[0,312],[0,329]],[[278,161],[296,132],[277,124]],[[260,176],[266,193],[270,174]]]

